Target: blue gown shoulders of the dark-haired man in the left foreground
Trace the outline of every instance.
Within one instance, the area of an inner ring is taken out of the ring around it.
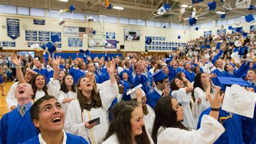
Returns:
[[[30,140],[24,142],[23,144],[40,144],[38,135],[31,138]],[[88,142],[82,138],[82,136],[73,135],[66,132],[66,143],[82,143],[82,144],[88,144]]]

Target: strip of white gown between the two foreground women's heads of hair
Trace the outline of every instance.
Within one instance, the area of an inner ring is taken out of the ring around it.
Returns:
[[[154,110],[151,106],[146,104],[146,107],[149,113],[147,115],[144,115],[144,123],[145,123],[147,132],[149,132],[149,134],[151,135],[153,124],[154,124],[154,118],[156,117],[156,115],[154,114]]]

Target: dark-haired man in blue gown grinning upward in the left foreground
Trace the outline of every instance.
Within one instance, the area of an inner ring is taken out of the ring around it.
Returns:
[[[31,107],[30,115],[40,134],[24,143],[88,143],[63,130],[65,114],[62,105],[51,95],[38,99]]]

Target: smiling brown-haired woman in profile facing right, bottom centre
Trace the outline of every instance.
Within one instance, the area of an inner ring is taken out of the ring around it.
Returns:
[[[137,101],[125,101],[113,108],[113,121],[104,138],[105,143],[153,143],[147,133],[142,109],[142,91],[136,90]]]

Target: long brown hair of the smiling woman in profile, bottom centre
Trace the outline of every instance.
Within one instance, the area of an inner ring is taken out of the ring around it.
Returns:
[[[136,101],[124,101],[116,104],[113,108],[113,121],[109,126],[104,141],[111,135],[116,134],[119,143],[131,144],[132,143],[132,129],[131,129],[131,116],[134,108],[139,107]],[[137,143],[150,143],[149,136],[147,136],[145,126],[142,126],[142,134],[136,135]]]

